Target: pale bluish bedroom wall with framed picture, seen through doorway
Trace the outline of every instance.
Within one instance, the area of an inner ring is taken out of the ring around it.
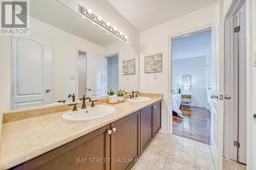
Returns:
[[[206,107],[206,56],[173,60],[173,87],[179,86],[181,94],[185,94],[182,88],[182,75],[191,75],[191,105]]]

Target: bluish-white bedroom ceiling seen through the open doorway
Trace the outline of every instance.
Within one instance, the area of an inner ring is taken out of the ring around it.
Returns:
[[[205,56],[211,40],[211,30],[185,35],[172,40],[172,59],[185,59]]]

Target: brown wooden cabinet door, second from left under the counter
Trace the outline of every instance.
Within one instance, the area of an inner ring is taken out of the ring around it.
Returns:
[[[140,156],[140,110],[111,124],[111,169],[131,169]]]

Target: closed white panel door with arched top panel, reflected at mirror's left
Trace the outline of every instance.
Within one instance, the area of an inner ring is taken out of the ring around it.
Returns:
[[[36,36],[12,36],[12,108],[52,103],[52,43]]]

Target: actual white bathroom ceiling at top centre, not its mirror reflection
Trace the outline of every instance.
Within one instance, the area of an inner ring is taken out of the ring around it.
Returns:
[[[218,0],[108,0],[139,32],[179,18]]]

